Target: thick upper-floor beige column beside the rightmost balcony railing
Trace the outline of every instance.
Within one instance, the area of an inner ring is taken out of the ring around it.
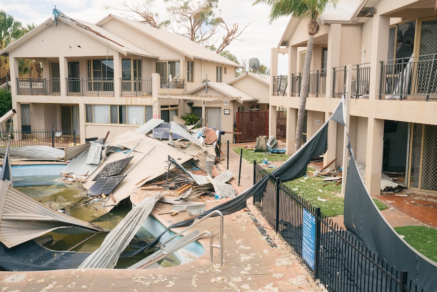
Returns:
[[[372,17],[372,49],[370,57],[370,83],[369,100],[379,99],[381,60],[387,59],[388,34],[390,28],[390,17],[374,15]]]

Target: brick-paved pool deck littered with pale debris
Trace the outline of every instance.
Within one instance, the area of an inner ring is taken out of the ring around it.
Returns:
[[[236,144],[232,147],[242,147]],[[253,143],[249,143],[253,145]],[[224,160],[214,167],[214,172],[228,168],[234,172],[231,184],[238,193],[252,185],[253,165],[243,159],[239,176],[240,157],[232,148],[223,149]],[[214,173],[213,173],[214,175]],[[229,199],[203,196],[206,209]],[[153,213],[171,211],[169,204],[158,203]],[[174,216],[159,215],[166,225],[189,217],[188,212]],[[201,222],[199,230],[211,230],[213,244],[220,245],[217,226],[220,218]],[[0,291],[326,291],[315,283],[307,268],[290,251],[290,247],[271,229],[251,200],[247,208],[224,216],[223,266],[220,252],[213,248],[213,261],[209,258],[209,238],[200,243],[205,252],[193,261],[159,269],[70,269],[37,272],[0,272]]]

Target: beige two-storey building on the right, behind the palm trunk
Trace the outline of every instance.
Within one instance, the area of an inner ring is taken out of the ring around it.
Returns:
[[[405,186],[437,192],[437,14],[435,0],[339,0],[320,16],[314,37],[305,135],[331,115],[346,91],[349,135],[366,166],[366,186],[380,192],[383,171],[405,173]],[[294,149],[308,19],[291,18],[271,50],[270,133],[287,111],[287,151]],[[278,76],[288,54],[288,76]],[[346,88],[346,67],[352,65]],[[324,163],[344,165],[344,128],[330,121]],[[305,137],[304,137],[305,138]]]

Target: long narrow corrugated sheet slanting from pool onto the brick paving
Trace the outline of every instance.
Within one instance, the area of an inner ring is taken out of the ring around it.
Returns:
[[[102,245],[85,259],[79,269],[114,268],[121,252],[127,247],[162,196],[162,194],[156,194],[136,205],[106,236]]]

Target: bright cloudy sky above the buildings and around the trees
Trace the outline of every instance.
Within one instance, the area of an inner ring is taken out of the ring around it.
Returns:
[[[142,4],[137,0],[125,0],[130,6]],[[252,6],[255,0],[219,0],[220,16],[227,23],[239,23],[244,27],[250,23],[240,36],[244,41],[233,41],[226,49],[241,60],[258,58],[261,64],[270,68],[270,49],[277,47],[288,22],[287,17],[269,21],[270,8],[264,4]],[[123,12],[116,9],[105,9],[104,6],[115,6],[123,0],[0,0],[0,9],[12,15],[14,19],[24,25],[41,24],[52,16],[53,8],[62,11],[65,15],[82,21],[95,23],[107,14],[113,13],[124,16]],[[168,19],[165,4],[162,0],[155,0],[152,10],[158,12],[159,21]],[[216,13],[218,16],[218,12]],[[126,17],[126,16],[125,16]],[[218,45],[218,44],[217,44]],[[287,74],[286,59],[280,57],[278,74]]]

